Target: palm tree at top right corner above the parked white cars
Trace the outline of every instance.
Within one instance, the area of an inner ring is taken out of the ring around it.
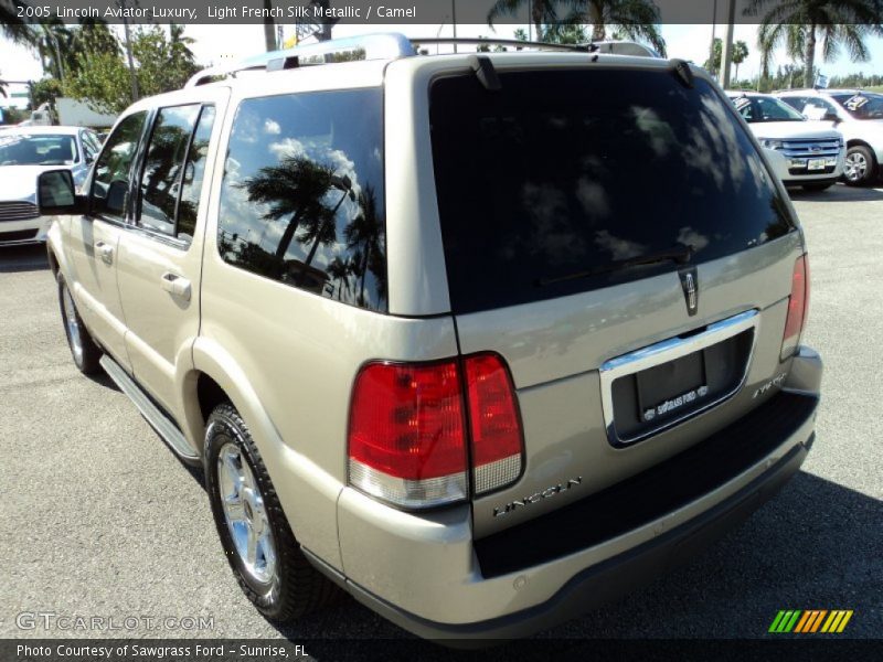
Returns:
[[[870,52],[864,40],[872,34],[883,35],[877,0],[751,0],[745,13],[757,15],[767,4],[770,9],[760,21],[757,35],[762,57],[769,57],[773,49],[784,45],[789,57],[804,62],[806,87],[812,87],[816,81],[819,40],[825,62],[834,60],[843,46],[853,62],[868,62]]]

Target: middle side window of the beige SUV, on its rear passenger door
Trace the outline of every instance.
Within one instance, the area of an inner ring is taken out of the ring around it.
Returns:
[[[141,177],[141,225],[174,234],[181,173],[200,107],[162,108],[153,125]]]

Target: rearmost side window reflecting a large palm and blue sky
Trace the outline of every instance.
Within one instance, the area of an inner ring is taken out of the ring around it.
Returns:
[[[226,261],[386,309],[381,95],[355,89],[242,103],[221,193]]]

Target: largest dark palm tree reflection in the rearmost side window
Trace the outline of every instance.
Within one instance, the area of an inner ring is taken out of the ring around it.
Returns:
[[[262,168],[256,177],[240,184],[248,191],[248,202],[269,205],[263,216],[266,221],[288,217],[288,225],[276,247],[277,259],[285,259],[301,224],[318,235],[318,226],[331,212],[323,201],[333,188],[333,170],[326,166],[306,157],[286,157],[278,166]]]

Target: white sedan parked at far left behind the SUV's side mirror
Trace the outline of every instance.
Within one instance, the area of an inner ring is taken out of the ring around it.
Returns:
[[[100,141],[92,129],[12,127],[0,131],[0,245],[44,242],[51,218],[38,210],[40,173],[70,168],[78,186],[98,151]]]

